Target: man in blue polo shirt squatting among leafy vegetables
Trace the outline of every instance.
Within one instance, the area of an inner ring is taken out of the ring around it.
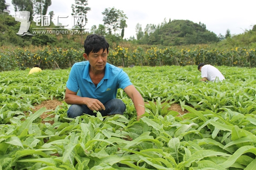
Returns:
[[[122,88],[132,99],[138,118],[145,113],[144,100],[120,68],[107,63],[109,44],[103,36],[89,35],[84,41],[87,61],[74,63],[67,80],[65,101],[71,106],[69,118],[82,114],[102,116],[123,114],[126,106],[116,99],[117,89]]]

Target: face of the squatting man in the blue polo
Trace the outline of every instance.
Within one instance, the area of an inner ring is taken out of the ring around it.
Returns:
[[[84,53],[83,57],[89,61],[93,71],[102,71],[105,69],[107,63],[108,52],[107,49],[104,51],[101,49],[96,53],[90,52],[89,56]]]

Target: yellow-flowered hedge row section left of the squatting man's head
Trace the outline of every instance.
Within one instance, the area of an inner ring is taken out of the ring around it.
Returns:
[[[63,50],[50,48],[34,51],[17,48],[14,51],[0,51],[0,71],[28,69],[39,64],[42,69],[67,69],[75,62],[83,60],[82,51],[73,48]]]

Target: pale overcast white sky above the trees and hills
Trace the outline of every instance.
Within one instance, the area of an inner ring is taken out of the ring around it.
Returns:
[[[11,1],[6,0],[10,4]],[[74,0],[52,0],[47,13],[54,11],[55,18],[61,15],[71,17],[72,4]],[[102,12],[114,7],[128,17],[124,38],[136,38],[137,23],[144,31],[147,24],[161,25],[164,19],[167,22],[169,19],[201,22],[216,35],[225,35],[227,29],[231,35],[237,35],[256,25],[255,6],[255,0],[88,0],[91,10],[87,13],[85,28],[90,30],[93,25],[103,25]],[[11,15],[15,13],[12,4],[9,10]]]

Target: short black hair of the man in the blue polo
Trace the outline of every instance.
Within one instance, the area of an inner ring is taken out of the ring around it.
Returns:
[[[97,35],[97,34],[91,34],[88,35],[87,38],[84,41],[84,53],[86,53],[89,56],[89,53],[92,51],[93,53],[99,52],[99,50],[107,49],[108,52],[109,44],[105,37]]]

